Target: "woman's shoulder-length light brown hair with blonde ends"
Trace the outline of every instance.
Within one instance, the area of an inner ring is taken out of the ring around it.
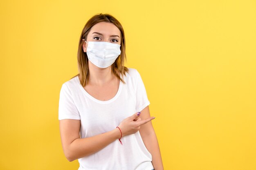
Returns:
[[[125,83],[125,82],[120,77],[119,74],[123,76],[123,75],[126,75],[126,72],[128,72],[128,68],[124,66],[124,62],[126,61],[126,52],[125,52],[126,43],[125,43],[125,37],[124,37],[124,29],[120,24],[120,22],[115,17],[109,14],[100,13],[100,14],[94,15],[93,17],[90,18],[90,20],[88,20],[88,22],[83,27],[83,31],[79,39],[79,45],[78,45],[78,51],[77,51],[77,64],[78,64],[79,74],[77,74],[76,76],[79,76],[80,83],[83,87],[85,87],[85,85],[87,85],[89,81],[88,57],[86,52],[83,51],[83,43],[84,43],[83,39],[87,39],[88,33],[90,32],[90,29],[92,28],[92,26],[94,26],[99,22],[110,22],[115,26],[117,26],[117,28],[120,30],[121,54],[117,57],[117,59],[111,65],[111,67],[114,75],[117,76],[117,78],[119,78],[119,80],[122,83]]]

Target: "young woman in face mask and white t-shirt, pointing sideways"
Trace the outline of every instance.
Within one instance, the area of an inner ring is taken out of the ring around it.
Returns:
[[[94,15],[79,39],[79,74],[63,83],[61,143],[79,170],[163,170],[149,101],[137,70],[126,68],[121,24]]]

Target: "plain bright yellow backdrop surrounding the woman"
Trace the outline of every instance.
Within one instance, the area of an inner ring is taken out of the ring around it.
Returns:
[[[255,0],[1,1],[1,170],[79,167],[63,154],[58,99],[96,13],[124,27],[165,170],[256,170]]]

